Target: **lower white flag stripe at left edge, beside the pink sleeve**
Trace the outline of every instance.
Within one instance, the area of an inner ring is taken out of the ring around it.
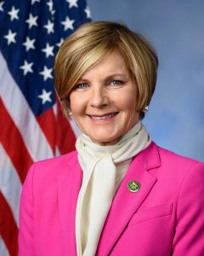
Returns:
[[[0,155],[0,190],[14,214],[14,220],[17,226],[19,226],[19,204],[22,189],[20,177],[2,144],[0,144]],[[2,254],[0,253],[0,255]]]

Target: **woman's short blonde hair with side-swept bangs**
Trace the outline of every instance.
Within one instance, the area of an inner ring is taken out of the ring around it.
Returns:
[[[59,48],[54,63],[54,85],[67,116],[70,94],[83,73],[119,50],[137,87],[137,110],[144,117],[156,87],[158,59],[155,50],[139,34],[121,23],[94,21],[80,26]]]

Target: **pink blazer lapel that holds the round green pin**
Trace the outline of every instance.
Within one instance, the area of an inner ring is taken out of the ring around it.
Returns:
[[[154,152],[154,157],[150,156],[152,152]],[[99,239],[97,255],[108,255],[110,253],[128,221],[156,183],[156,177],[151,176],[148,170],[160,165],[155,143],[151,143],[148,148],[145,148],[133,159],[112,202]],[[140,184],[138,192],[131,192],[127,188],[127,184],[133,180]]]

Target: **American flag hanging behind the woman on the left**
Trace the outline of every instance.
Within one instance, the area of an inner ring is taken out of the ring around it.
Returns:
[[[54,55],[90,20],[85,0],[0,1],[0,255],[17,255],[19,201],[34,161],[74,149],[54,95]]]

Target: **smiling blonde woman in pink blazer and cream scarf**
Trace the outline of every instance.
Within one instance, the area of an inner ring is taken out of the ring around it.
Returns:
[[[144,38],[114,22],[62,44],[55,88],[82,133],[77,151],[31,166],[20,255],[204,255],[204,165],[158,147],[140,122],[157,64]]]

